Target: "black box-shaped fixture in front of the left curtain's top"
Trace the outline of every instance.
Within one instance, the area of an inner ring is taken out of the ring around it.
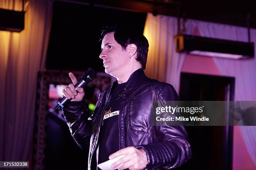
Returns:
[[[24,29],[25,12],[0,9],[0,30],[20,32]]]

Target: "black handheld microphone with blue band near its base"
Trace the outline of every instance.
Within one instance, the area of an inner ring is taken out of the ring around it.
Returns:
[[[84,88],[89,82],[92,81],[92,79],[95,78],[96,76],[96,72],[92,69],[92,68],[89,68],[87,70],[87,72],[84,73],[84,75],[82,75],[81,79],[77,82],[76,85],[74,85],[75,87],[75,90],[77,90],[77,87],[82,87]],[[71,100],[72,98],[70,99],[67,99],[65,96],[62,97],[59,102],[58,102],[58,105],[56,105],[56,107],[54,108],[54,111],[56,112],[57,110],[59,110],[60,107],[64,107],[65,105],[67,105],[67,103]]]

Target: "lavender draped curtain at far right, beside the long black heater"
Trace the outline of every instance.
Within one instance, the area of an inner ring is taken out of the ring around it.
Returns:
[[[200,34],[204,37],[248,42],[246,28],[207,22],[197,23]],[[256,54],[255,29],[251,29],[251,42],[254,42],[254,53]],[[256,101],[256,57],[249,60],[214,58],[214,61],[221,75],[236,78],[235,100]],[[256,167],[256,126],[240,126],[239,128],[247,151]]]

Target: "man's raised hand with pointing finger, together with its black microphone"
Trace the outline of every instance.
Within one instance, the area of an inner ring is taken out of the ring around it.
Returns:
[[[73,83],[69,84],[69,86],[62,91],[62,95],[64,97],[59,100],[58,105],[54,108],[54,111],[59,110],[60,107],[64,107],[69,101],[81,101],[84,97],[83,87],[91,82],[95,76],[96,72],[90,68],[84,73],[81,79],[77,81],[74,74],[69,72],[69,77]]]

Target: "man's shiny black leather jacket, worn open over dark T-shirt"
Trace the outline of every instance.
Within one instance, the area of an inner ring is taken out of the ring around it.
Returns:
[[[117,83],[117,82],[114,82]],[[120,148],[135,146],[146,152],[147,169],[174,168],[191,157],[187,132],[183,126],[154,126],[151,123],[152,101],[178,100],[170,84],[146,77],[142,69],[130,76],[123,92],[120,112]],[[97,101],[94,114],[87,117],[84,102],[70,102],[63,108],[72,137],[84,148],[90,145],[88,169],[100,133],[103,112],[111,98],[112,87],[104,90]]]

